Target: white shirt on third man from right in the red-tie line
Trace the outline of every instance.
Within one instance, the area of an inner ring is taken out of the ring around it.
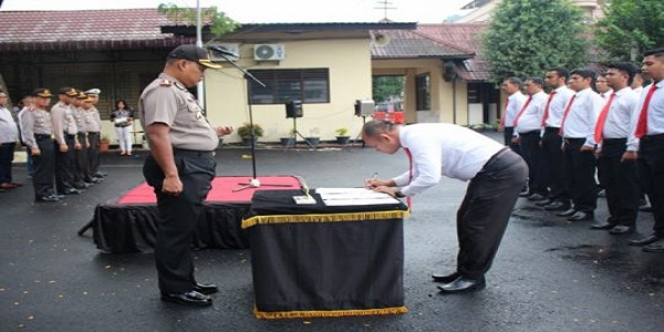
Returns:
[[[564,124],[564,138],[585,138],[583,145],[594,147],[594,127],[605,101],[592,89],[578,91]],[[566,106],[567,107],[567,106]]]

